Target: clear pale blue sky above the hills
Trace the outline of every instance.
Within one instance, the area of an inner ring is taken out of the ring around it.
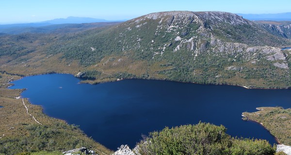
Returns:
[[[1,0],[0,23],[68,16],[122,20],[173,10],[270,14],[291,12],[290,6],[291,0]]]

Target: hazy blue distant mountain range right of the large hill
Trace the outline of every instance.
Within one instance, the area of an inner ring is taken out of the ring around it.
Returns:
[[[274,20],[274,21],[290,21],[291,13],[280,14],[237,14],[249,20]]]

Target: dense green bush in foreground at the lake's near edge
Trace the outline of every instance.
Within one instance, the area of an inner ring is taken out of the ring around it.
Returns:
[[[224,126],[199,123],[151,132],[139,144],[142,155],[274,155],[266,140],[236,139]]]

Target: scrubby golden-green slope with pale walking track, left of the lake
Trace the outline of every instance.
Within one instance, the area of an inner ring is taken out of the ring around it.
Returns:
[[[21,77],[6,73],[0,76],[0,155],[61,155],[63,151],[80,147],[98,154],[112,153],[87,137],[78,126],[46,116],[40,106],[26,99],[16,99],[23,90],[6,89],[11,85],[7,82]],[[41,124],[32,119],[23,103]]]

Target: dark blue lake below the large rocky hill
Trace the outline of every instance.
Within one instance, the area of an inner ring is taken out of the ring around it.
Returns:
[[[142,134],[165,126],[223,124],[231,136],[269,140],[274,137],[260,124],[243,121],[242,112],[257,107],[291,107],[291,90],[245,89],[161,80],[129,79],[97,85],[78,84],[67,74],[22,78],[11,89],[27,88],[22,96],[44,112],[69,124],[80,125],[89,136],[116,150],[134,147]]]

